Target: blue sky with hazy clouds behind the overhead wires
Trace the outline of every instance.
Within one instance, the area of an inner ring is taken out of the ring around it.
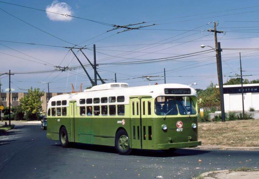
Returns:
[[[162,84],[165,68],[166,83],[196,82],[193,88],[206,89],[211,82],[218,84],[211,49],[215,48],[214,34],[207,31],[215,21],[217,30],[224,31],[217,34],[223,49],[223,81],[240,75],[239,52],[243,75],[257,79],[259,52],[249,48],[259,48],[258,13],[259,3],[252,0],[216,4],[203,0],[0,1],[0,72],[14,73],[14,92],[30,87],[47,92],[47,84],[39,82],[49,82],[50,92],[70,92],[71,83],[76,90],[82,83],[84,89],[91,83],[69,47],[84,47],[82,51],[93,62],[95,44],[98,73],[107,83],[115,81],[116,73],[117,82],[129,86]],[[107,32],[113,25],[142,22],[129,27],[152,26]],[[211,47],[202,49],[201,45]],[[84,55],[73,51],[94,78]],[[64,67],[66,71],[61,71]],[[2,75],[1,83],[7,89],[9,77]]]

